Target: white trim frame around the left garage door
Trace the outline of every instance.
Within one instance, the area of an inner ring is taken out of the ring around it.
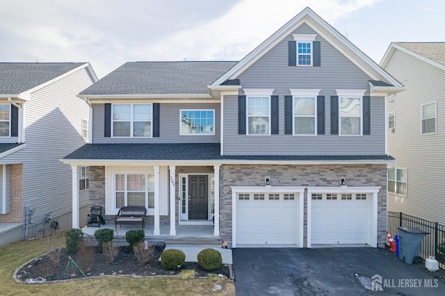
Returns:
[[[297,229],[297,243],[298,247],[303,247],[303,231],[304,231],[304,197],[305,197],[305,187],[302,186],[230,186],[232,189],[232,247],[236,247],[236,205],[238,199],[236,195],[238,193],[249,192],[249,193],[298,193],[298,229]]]

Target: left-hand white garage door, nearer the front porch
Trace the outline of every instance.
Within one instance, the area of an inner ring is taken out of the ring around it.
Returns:
[[[238,193],[237,245],[296,245],[297,193]]]

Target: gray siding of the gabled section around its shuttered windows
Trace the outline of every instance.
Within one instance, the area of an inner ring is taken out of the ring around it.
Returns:
[[[294,33],[314,34],[303,24]],[[371,135],[330,135],[330,96],[337,89],[368,90],[368,75],[327,41],[321,42],[321,67],[288,65],[289,35],[237,78],[243,88],[273,88],[279,98],[278,135],[238,135],[238,99],[224,97],[225,155],[383,155],[385,154],[385,99],[371,97]],[[325,135],[284,134],[284,96],[289,89],[321,89],[325,96]],[[242,92],[241,92],[242,93]]]

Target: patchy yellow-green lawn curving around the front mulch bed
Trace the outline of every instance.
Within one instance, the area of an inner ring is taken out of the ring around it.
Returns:
[[[58,244],[65,246],[63,236]],[[0,247],[1,295],[235,295],[234,283],[223,283],[223,290],[212,292],[210,279],[102,277],[63,283],[17,283],[13,272],[22,264],[47,252],[45,240],[15,242]],[[60,264],[65,264],[60,262]]]

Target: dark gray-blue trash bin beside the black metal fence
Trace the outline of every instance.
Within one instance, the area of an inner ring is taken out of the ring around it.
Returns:
[[[398,227],[397,236],[399,240],[400,252],[398,258],[407,264],[412,264],[412,259],[419,256],[423,237],[429,232],[412,227]]]

